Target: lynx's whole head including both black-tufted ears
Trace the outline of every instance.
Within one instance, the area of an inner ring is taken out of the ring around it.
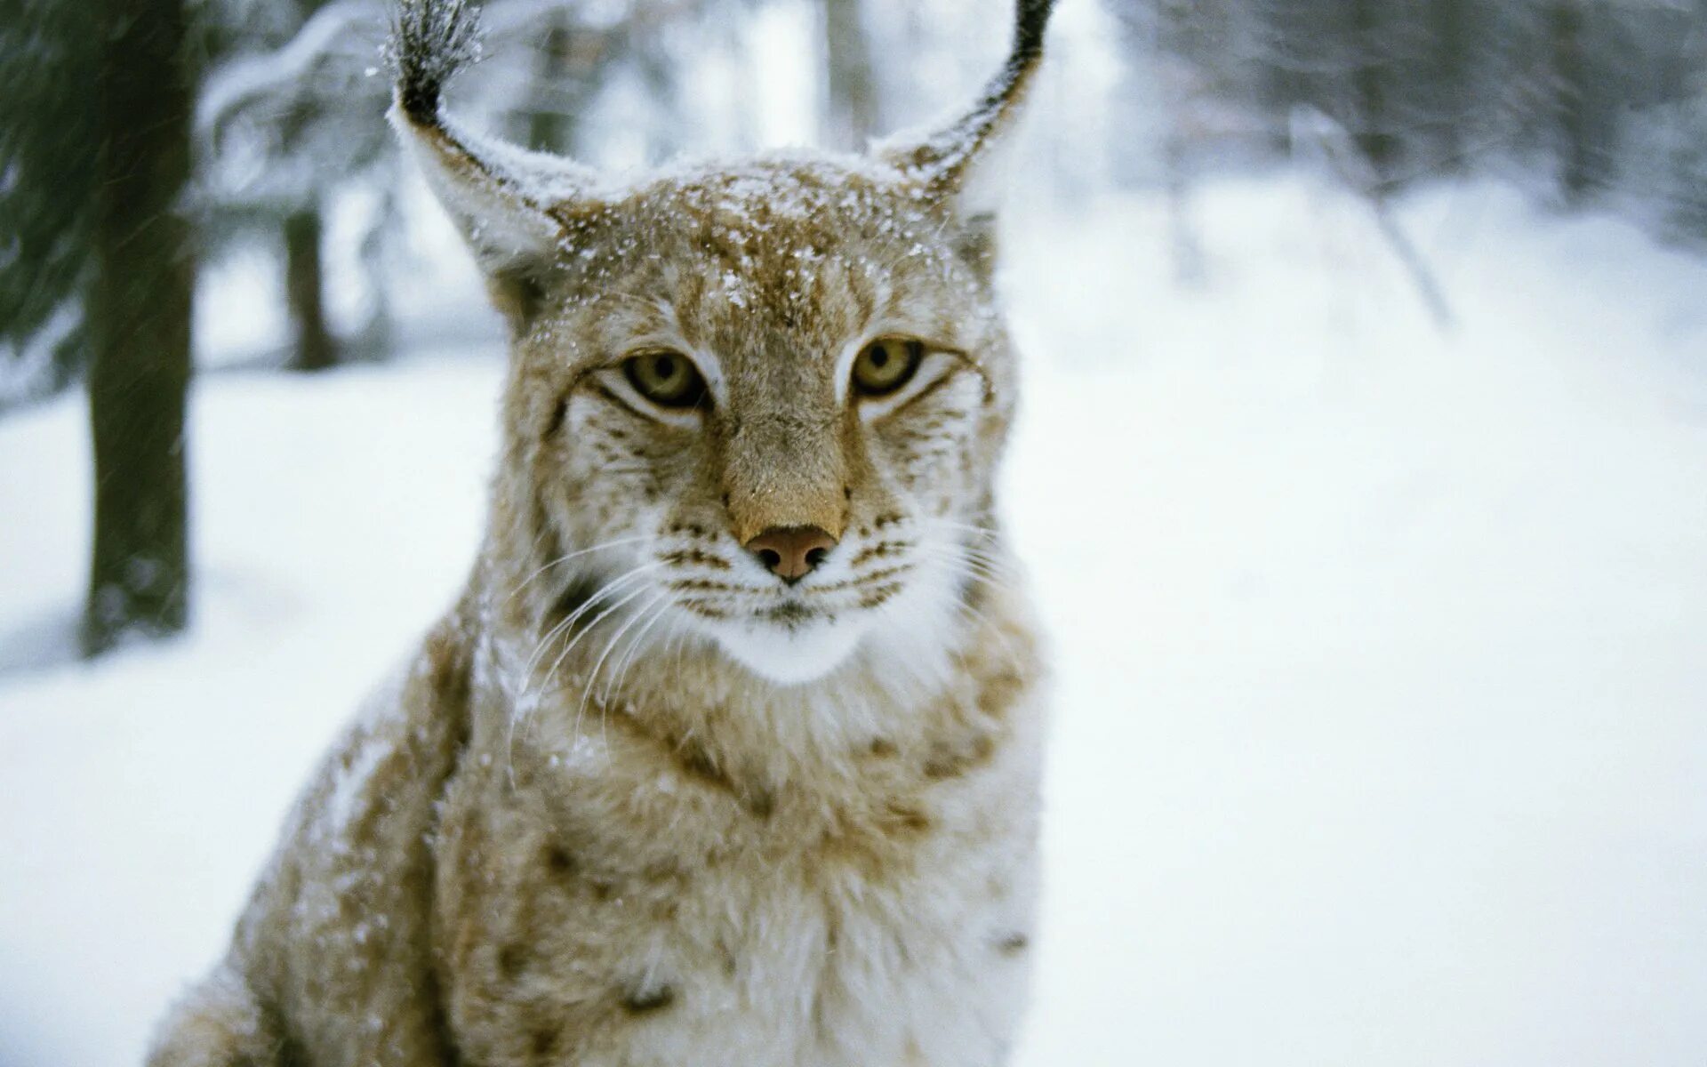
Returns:
[[[459,128],[439,97],[471,14],[405,0],[393,121],[510,324],[495,536],[541,603],[579,591],[780,685],[941,652],[988,574],[1016,391],[992,171],[1048,10],[1021,0],[941,133],[618,184]]]

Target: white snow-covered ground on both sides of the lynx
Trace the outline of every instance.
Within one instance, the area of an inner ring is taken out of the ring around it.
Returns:
[[[1306,179],[1007,248],[1005,509],[1057,662],[1019,1067],[1707,1057],[1707,263]],[[473,299],[473,297],[468,297]],[[471,312],[475,314],[475,312]],[[0,1064],[135,1064],[471,557],[500,355],[195,394],[196,625],[56,657],[84,408],[0,422]]]

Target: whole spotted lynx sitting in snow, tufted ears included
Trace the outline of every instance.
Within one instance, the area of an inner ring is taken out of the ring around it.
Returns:
[[[391,121],[510,328],[457,604],[290,816],[159,1067],[997,1067],[1041,656],[995,517],[997,157],[1050,0],[935,133],[615,183]]]

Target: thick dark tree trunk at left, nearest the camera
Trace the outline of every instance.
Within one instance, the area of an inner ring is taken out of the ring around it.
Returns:
[[[94,558],[82,645],[189,616],[184,401],[195,283],[184,0],[101,0],[96,278],[89,306]]]

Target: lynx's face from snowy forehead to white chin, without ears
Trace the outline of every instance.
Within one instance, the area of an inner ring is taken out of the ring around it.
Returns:
[[[799,160],[563,222],[510,454],[565,551],[613,545],[587,570],[628,575],[628,640],[698,633],[780,683],[862,644],[923,661],[978,580],[1012,406],[980,237],[893,172]],[[773,529],[821,531],[802,574]]]

